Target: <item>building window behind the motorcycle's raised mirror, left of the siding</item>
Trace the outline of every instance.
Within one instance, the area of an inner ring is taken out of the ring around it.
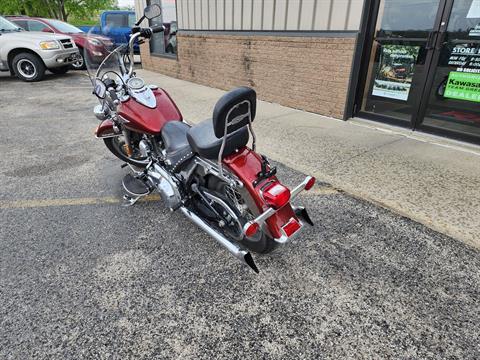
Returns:
[[[150,53],[163,56],[177,56],[177,9],[175,0],[150,0],[150,4],[158,4],[162,15],[150,20],[151,26],[165,26],[165,32],[153,34],[150,39]]]

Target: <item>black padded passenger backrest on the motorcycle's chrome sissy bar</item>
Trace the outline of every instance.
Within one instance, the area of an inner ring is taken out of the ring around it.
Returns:
[[[242,86],[233,89],[218,100],[213,109],[213,129],[217,138],[240,129],[255,118],[257,94],[255,90]]]

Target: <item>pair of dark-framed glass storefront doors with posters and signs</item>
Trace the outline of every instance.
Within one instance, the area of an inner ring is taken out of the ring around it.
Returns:
[[[480,140],[480,0],[376,6],[357,114]]]

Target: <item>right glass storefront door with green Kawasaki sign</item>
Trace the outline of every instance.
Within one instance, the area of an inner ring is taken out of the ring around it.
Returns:
[[[420,126],[480,137],[480,0],[455,0],[447,15]]]

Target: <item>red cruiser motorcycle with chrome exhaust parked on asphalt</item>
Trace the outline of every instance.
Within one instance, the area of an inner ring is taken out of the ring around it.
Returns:
[[[100,100],[94,109],[102,121],[96,136],[132,169],[123,179],[127,204],[157,191],[170,210],[181,211],[258,272],[249,250],[270,252],[298,235],[305,223],[313,225],[305,208],[291,202],[310,190],[315,178],[307,176],[289,190],[255,151],[253,89],[226,93],[211,119],[190,126],[165,90],[136,77],[133,43],[163,31],[163,26],[138,24],[159,15],[158,5],[146,7],[127,45],[100,64],[86,59]]]

